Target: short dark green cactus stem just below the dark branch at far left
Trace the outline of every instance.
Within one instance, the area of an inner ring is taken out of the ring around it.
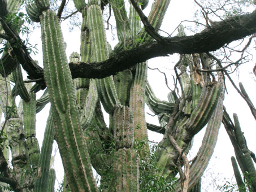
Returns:
[[[12,75],[14,76],[16,89],[17,89],[18,94],[20,95],[21,99],[23,99],[25,102],[29,102],[29,100],[30,100],[29,93],[28,93],[28,90],[25,87],[24,82],[23,82],[20,64],[18,64],[18,66],[15,68]]]

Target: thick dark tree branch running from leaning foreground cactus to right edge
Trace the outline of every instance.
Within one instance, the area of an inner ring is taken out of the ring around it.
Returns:
[[[164,38],[163,42],[146,42],[130,50],[115,53],[100,63],[70,63],[72,76],[103,78],[137,63],[168,54],[193,54],[214,51],[232,41],[256,32],[256,12],[235,16],[212,25],[193,36]]]

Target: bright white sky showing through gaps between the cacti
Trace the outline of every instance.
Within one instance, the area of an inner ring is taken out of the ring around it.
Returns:
[[[149,6],[144,10],[144,13],[147,15],[147,13],[150,11],[150,6],[152,0],[149,2]],[[179,25],[180,21],[182,20],[193,20],[194,16],[194,1],[192,0],[172,0],[171,5],[168,8],[167,14],[165,16],[162,30],[172,33],[173,30]],[[112,18],[114,18],[112,16]],[[114,21],[110,21],[111,24],[114,24]],[[184,23],[186,25],[186,23]],[[73,51],[80,52],[80,30],[75,29],[72,33],[68,33],[69,29],[66,22],[62,23],[62,31],[64,35],[64,41],[67,43],[67,56],[69,57],[70,54]],[[111,43],[112,48],[114,48],[114,45],[117,43],[117,41],[111,41],[111,31],[109,30],[107,32],[108,41]],[[34,29],[33,33],[31,34],[31,42],[37,43],[39,54],[34,57],[34,59],[37,59],[40,65],[42,66],[42,52],[41,52],[41,29],[36,28]],[[255,50],[251,51],[251,54],[255,55]],[[238,72],[235,72],[233,74],[233,80],[235,82],[243,82],[246,91],[248,91],[248,94],[250,96],[251,101],[256,104],[255,101],[255,78],[253,80],[253,75],[251,75],[249,72],[252,71],[255,59],[252,58],[252,62],[242,64],[242,67],[238,69]],[[177,55],[170,55],[168,57],[161,57],[161,58],[154,58],[149,60],[149,67],[151,68],[159,68],[162,72],[166,72],[166,75],[169,77],[169,85],[172,85],[172,74],[173,74],[173,63],[177,62]],[[164,82],[164,76],[160,74],[159,72],[152,71],[148,69],[148,78],[150,85],[152,86],[155,95],[157,95],[158,98],[167,100],[167,94],[168,89]],[[227,108],[227,111],[229,112],[229,115],[232,117],[233,112],[236,112],[238,115],[238,118],[240,120],[240,125],[242,128],[242,131],[244,132],[244,135],[247,139],[248,147],[251,151],[256,152],[256,145],[255,145],[255,120],[253,116],[250,114],[249,107],[244,102],[244,100],[236,93],[236,90],[233,89],[232,85],[229,83],[228,80],[226,80],[226,85],[228,88],[228,94],[225,94],[225,100],[224,105]],[[238,84],[237,84],[238,85]],[[37,95],[37,98],[40,98],[40,95]],[[150,110],[146,106],[146,112],[150,112]],[[49,104],[42,110],[39,114],[37,114],[37,129],[36,134],[38,138],[38,142],[40,143],[40,146],[42,145],[42,139],[44,136],[44,129],[46,125],[47,116],[49,113]],[[151,117],[150,115],[146,115],[146,120],[148,123],[158,124],[157,117]],[[106,121],[108,121],[106,119]],[[192,159],[194,155],[196,155],[197,149],[199,149],[199,146],[201,145],[201,139],[203,137],[204,130],[202,130],[194,139],[194,147],[192,150],[192,156],[189,156],[189,159]],[[149,139],[150,141],[160,141],[162,136],[160,134],[150,132],[149,131]],[[55,150],[53,151],[53,154],[55,156],[55,171],[57,174],[58,182],[62,182],[63,177],[63,170],[59,166],[61,163],[60,157],[58,153],[56,152],[56,146]],[[235,155],[233,152],[233,147],[231,145],[231,142],[229,141],[229,138],[227,136],[227,133],[225,133],[224,126],[220,128],[218,142],[215,147],[214,154],[212,155],[212,159],[210,161],[209,171],[205,172],[205,180],[203,180],[203,188],[206,189],[206,187],[209,185],[209,182],[211,182],[214,179],[220,180],[218,182],[219,185],[222,185],[224,183],[224,177],[227,177],[228,180],[233,176],[233,169],[231,165],[231,156]],[[213,176],[212,176],[213,174]],[[215,178],[216,177],[216,178]],[[56,186],[56,185],[55,185]],[[203,190],[202,190],[203,191]],[[213,191],[211,189],[206,189],[206,191]]]

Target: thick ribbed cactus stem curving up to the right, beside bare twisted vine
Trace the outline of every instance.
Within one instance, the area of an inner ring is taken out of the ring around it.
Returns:
[[[168,139],[166,139],[168,132],[175,135],[175,140],[181,149],[186,148],[194,134],[199,132],[212,116],[218,106],[222,91],[222,83],[205,84],[197,107],[192,111],[192,114],[190,116],[180,115],[176,123],[168,128],[169,130],[167,130],[162,142],[160,142],[160,149],[158,150],[158,166],[162,170],[164,177],[173,173],[172,167],[173,165],[175,167],[174,159],[179,156]]]

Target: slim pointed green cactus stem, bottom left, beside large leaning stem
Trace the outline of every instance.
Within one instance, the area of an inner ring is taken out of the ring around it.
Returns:
[[[41,154],[39,158],[37,177],[34,184],[34,191],[40,192],[45,191],[50,181],[49,169],[51,160],[51,151],[53,150],[53,138],[54,138],[54,122],[53,115],[50,114],[47,119],[44,141],[42,143]]]

